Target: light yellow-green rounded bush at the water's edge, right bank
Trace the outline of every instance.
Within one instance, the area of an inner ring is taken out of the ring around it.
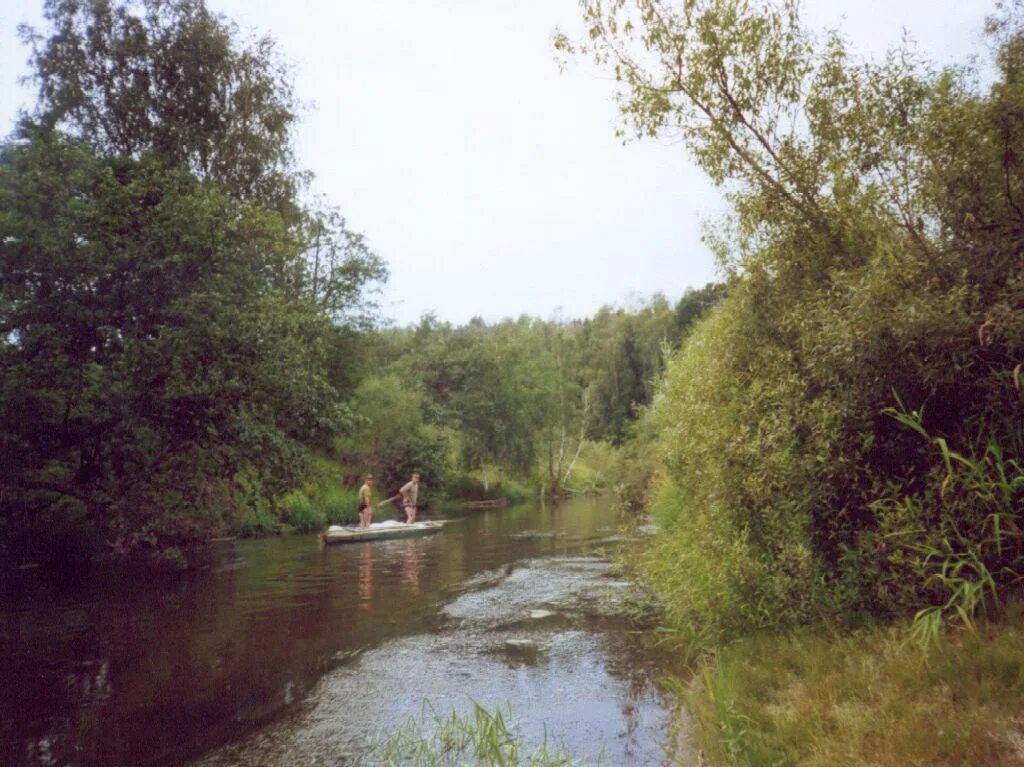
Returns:
[[[697,325],[642,425],[667,482],[653,505],[666,534],[640,571],[694,641],[803,622],[821,579],[817,462],[794,438],[820,414],[785,355],[749,343],[751,309],[737,290]]]

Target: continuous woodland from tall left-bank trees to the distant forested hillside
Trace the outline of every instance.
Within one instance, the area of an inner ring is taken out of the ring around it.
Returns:
[[[37,100],[0,147],[9,553],[314,525],[310,505],[347,511],[329,485],[367,471],[557,494],[583,439],[627,438],[666,350],[721,295],[388,328],[386,265],[295,165],[270,38],[202,0],[44,7],[22,29]]]

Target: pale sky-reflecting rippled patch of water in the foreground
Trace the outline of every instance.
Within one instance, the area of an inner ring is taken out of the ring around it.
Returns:
[[[603,748],[605,764],[663,764],[667,701],[621,627],[588,621],[614,610],[607,594],[622,589],[609,571],[598,557],[567,557],[471,579],[441,608],[440,629],[336,668],[297,712],[199,764],[365,764],[380,733],[422,714],[424,701],[441,713],[508,705],[529,742],[547,733],[581,758]]]

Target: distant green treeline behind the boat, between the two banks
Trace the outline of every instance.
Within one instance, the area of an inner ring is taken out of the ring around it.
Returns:
[[[356,422],[335,455],[350,479],[374,470],[386,487],[419,470],[432,489],[457,496],[493,495],[509,477],[549,496],[582,489],[566,486],[581,454],[622,444],[666,353],[721,290],[690,290],[676,305],[656,296],[604,307],[582,321],[456,327],[425,316],[377,330],[349,402]],[[602,489],[612,480],[592,477]]]

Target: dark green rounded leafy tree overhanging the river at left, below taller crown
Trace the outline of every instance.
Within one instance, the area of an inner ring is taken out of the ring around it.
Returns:
[[[118,547],[184,543],[239,471],[283,489],[338,425],[327,319],[262,279],[296,257],[279,214],[49,135],[5,151],[0,221],[9,527],[62,508]]]

